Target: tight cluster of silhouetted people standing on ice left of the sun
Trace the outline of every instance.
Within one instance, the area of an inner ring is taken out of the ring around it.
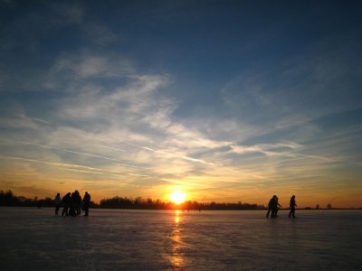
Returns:
[[[61,194],[57,193],[54,199],[55,202],[55,215],[58,215],[61,205],[62,216],[71,216],[76,217],[81,215],[81,210],[84,210],[84,216],[88,217],[90,210],[90,194],[85,192],[83,199],[81,199],[81,194],[76,190],[75,192],[68,192],[65,196],[61,198]]]

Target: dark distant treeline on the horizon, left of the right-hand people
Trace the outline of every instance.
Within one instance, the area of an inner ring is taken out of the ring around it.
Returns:
[[[53,207],[54,200],[47,197],[44,199],[25,198],[23,196],[15,196],[9,191],[0,190],[0,206],[25,206],[25,207]],[[243,203],[218,203],[218,202],[197,202],[185,201],[176,205],[174,202],[152,200],[145,198],[121,198],[114,197],[111,199],[103,199],[100,204],[90,201],[90,208],[108,208],[108,209],[139,209],[139,210],[264,210],[263,205]]]

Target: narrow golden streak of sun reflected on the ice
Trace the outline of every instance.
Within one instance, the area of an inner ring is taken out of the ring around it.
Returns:
[[[181,222],[181,210],[175,210],[174,221],[175,225],[171,234],[172,255],[170,261],[174,268],[179,268],[184,266],[184,257],[181,253],[181,248],[182,248],[181,230],[179,227]]]

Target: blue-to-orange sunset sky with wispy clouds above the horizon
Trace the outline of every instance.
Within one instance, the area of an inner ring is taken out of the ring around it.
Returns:
[[[0,189],[362,207],[361,13],[0,0]]]

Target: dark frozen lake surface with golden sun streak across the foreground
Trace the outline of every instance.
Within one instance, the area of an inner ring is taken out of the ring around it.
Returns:
[[[361,270],[362,210],[0,208],[1,270]]]

